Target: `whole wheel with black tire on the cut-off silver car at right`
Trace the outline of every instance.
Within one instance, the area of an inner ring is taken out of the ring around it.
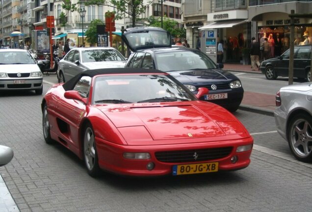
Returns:
[[[287,141],[292,154],[302,162],[312,162],[312,117],[299,113],[289,122]]]

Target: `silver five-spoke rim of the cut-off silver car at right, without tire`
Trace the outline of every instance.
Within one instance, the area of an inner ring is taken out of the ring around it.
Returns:
[[[290,126],[290,145],[299,157],[308,157],[312,152],[312,128],[305,119],[297,119]]]

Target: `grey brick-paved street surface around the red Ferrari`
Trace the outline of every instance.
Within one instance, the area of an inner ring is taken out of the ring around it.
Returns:
[[[55,78],[45,76],[44,93]],[[41,100],[33,92],[0,93],[0,144],[14,150],[12,161],[0,167],[9,190],[5,198],[11,196],[13,205],[3,204],[0,195],[1,212],[311,211],[312,164],[292,157],[272,116],[240,109],[234,113],[255,139],[252,162],[245,169],[94,179],[66,148],[45,143]]]

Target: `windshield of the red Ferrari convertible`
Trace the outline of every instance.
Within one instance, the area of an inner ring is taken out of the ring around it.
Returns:
[[[93,90],[93,104],[191,100],[196,100],[194,95],[168,75],[97,77]]]

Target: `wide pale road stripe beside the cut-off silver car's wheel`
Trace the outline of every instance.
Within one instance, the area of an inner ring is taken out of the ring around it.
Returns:
[[[269,148],[266,148],[266,147],[263,147],[263,146],[260,146],[260,145],[257,145],[257,144],[254,144],[253,150],[256,150],[256,151],[259,151],[259,152],[262,152],[262,153],[265,153],[265,154],[268,154],[270,156],[274,156],[274,157],[277,157],[277,158],[280,158],[280,159],[285,159],[285,160],[288,160],[288,161],[291,161],[291,162],[294,162],[294,163],[297,163],[297,164],[300,164],[300,165],[303,165],[303,166],[306,166],[306,167],[309,167],[309,168],[312,168],[312,164],[311,163],[301,162],[301,161],[295,159],[292,155],[289,155],[289,154],[286,154],[286,153],[282,153],[282,152],[279,152],[279,151],[276,151],[276,150],[272,150],[272,149],[269,149]]]

